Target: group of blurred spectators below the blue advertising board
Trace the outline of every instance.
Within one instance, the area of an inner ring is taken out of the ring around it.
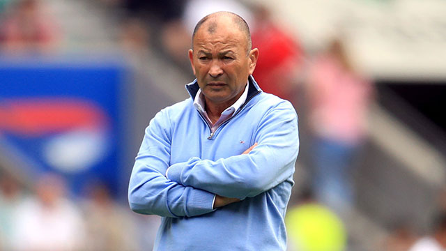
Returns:
[[[159,220],[132,213],[101,182],[74,197],[59,174],[31,187],[0,174],[0,250],[147,250]]]

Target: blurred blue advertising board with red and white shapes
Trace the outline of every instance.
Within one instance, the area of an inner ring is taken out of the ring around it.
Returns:
[[[0,140],[35,164],[32,175],[61,174],[73,192],[100,181],[116,194],[123,84],[113,60],[1,61]]]

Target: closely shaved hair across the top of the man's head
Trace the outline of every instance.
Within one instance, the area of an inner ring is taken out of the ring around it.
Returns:
[[[207,15],[206,17],[203,17],[195,26],[194,33],[192,33],[192,49],[194,47],[194,39],[195,34],[201,29],[203,26],[203,29],[206,29],[206,31],[210,34],[215,33],[217,31],[219,23],[222,22],[222,17],[231,17],[231,21],[233,22],[234,26],[237,27],[246,38],[247,42],[247,52],[252,48],[252,40],[251,40],[251,33],[249,32],[249,26],[247,22],[243,19],[243,17],[240,17],[236,13],[231,13],[229,11],[219,11],[216,13],[211,13]]]

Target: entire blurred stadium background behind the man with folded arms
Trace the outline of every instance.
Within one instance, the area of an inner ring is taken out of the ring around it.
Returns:
[[[442,0],[0,0],[0,250],[151,250],[128,179],[187,98],[194,25],[247,20],[254,77],[293,102],[289,250],[409,250],[446,210]]]

